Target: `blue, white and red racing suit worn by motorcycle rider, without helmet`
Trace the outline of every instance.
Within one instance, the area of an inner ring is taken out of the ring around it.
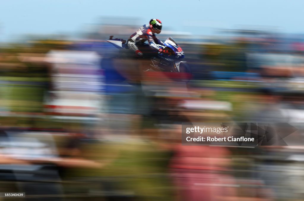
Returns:
[[[143,56],[143,53],[136,45],[140,43],[143,44],[147,40],[151,48],[158,50],[160,53],[166,53],[164,51],[164,43],[156,37],[155,33],[152,33],[149,25],[143,25],[133,33],[128,39],[127,45],[135,52],[136,56],[141,57]]]

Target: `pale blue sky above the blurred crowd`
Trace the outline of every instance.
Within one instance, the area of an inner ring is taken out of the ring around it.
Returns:
[[[302,0],[2,0],[0,41],[23,34],[79,33],[101,16],[158,18],[164,30],[210,34],[212,28],[261,25],[304,33]],[[189,28],[191,26],[192,28]]]

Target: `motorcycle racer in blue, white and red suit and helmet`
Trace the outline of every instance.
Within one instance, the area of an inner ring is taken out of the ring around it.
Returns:
[[[158,53],[168,54],[168,50],[165,49],[164,43],[155,35],[155,33],[161,33],[161,28],[162,23],[159,19],[151,19],[149,25],[141,26],[130,36],[127,42],[128,47],[135,52],[137,57],[142,57],[143,52],[140,51],[138,45],[142,45],[148,40],[149,46],[158,50]]]

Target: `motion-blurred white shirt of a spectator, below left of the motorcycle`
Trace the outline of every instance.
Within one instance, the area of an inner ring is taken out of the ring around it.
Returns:
[[[49,114],[90,116],[100,109],[100,56],[90,51],[50,51],[52,90],[45,110]]]

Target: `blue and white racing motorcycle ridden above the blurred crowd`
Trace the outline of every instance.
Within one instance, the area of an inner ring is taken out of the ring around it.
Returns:
[[[112,45],[120,49],[119,57],[130,58],[134,55],[133,50],[130,50],[126,44],[126,40],[123,39],[113,39],[110,36],[109,40]],[[143,71],[160,71],[160,72],[173,72],[173,73],[183,73],[187,75],[187,79],[191,77],[191,69],[187,61],[182,60],[185,57],[184,51],[175,42],[175,40],[170,37],[164,42],[165,49],[168,50],[168,54],[160,54],[157,50],[150,48],[149,44],[143,43],[138,45],[141,52],[143,52],[143,57],[141,59],[146,59],[149,62],[143,62]],[[185,76],[184,76],[185,78]]]

